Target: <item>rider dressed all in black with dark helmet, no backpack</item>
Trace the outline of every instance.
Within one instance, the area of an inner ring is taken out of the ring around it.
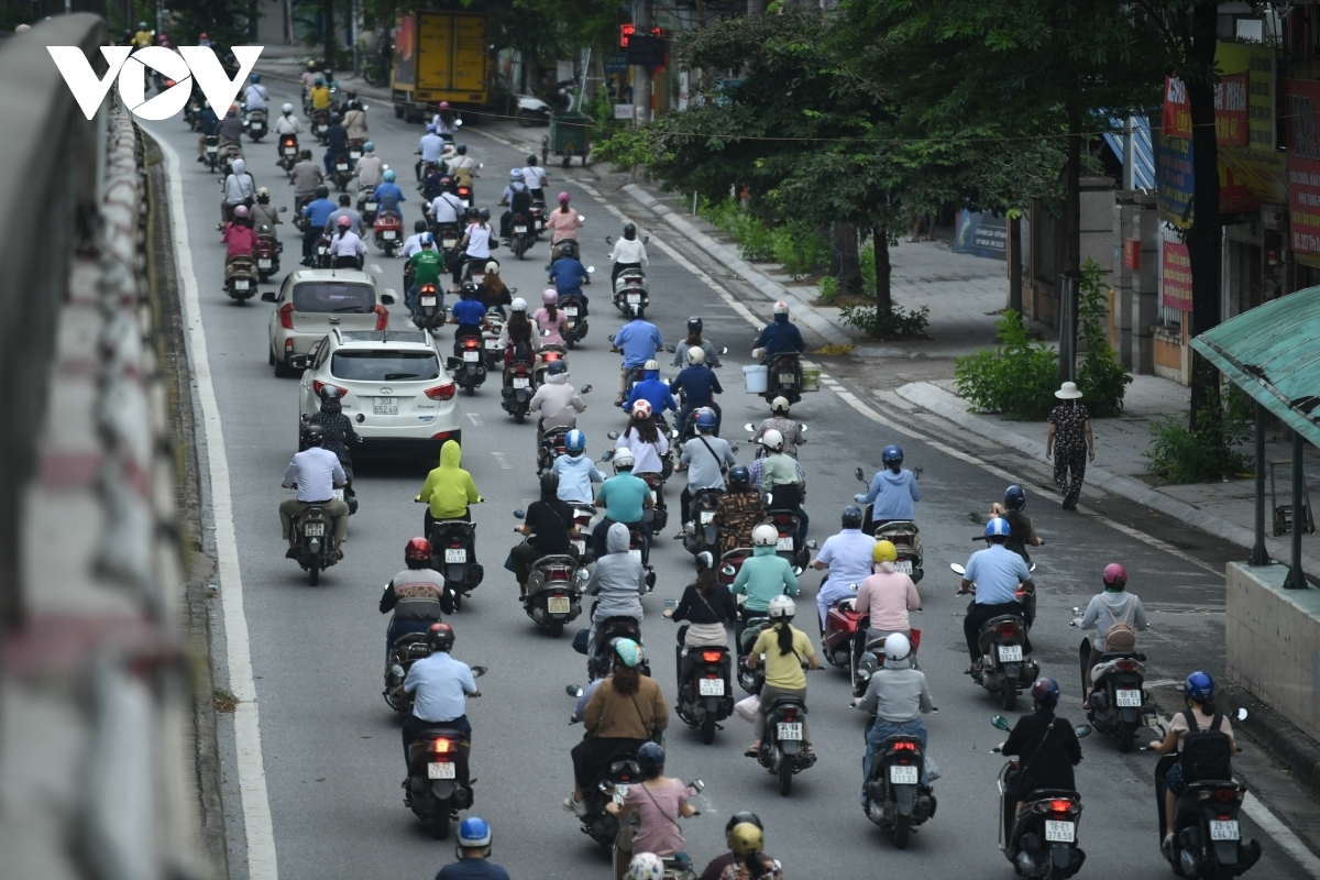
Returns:
[[[999,751],[1022,759],[1023,767],[1010,772],[1003,794],[1003,839],[1006,850],[1012,847],[1012,826],[1018,818],[1018,803],[1036,789],[1063,789],[1076,792],[1073,768],[1081,763],[1081,743],[1067,718],[1056,718],[1059,682],[1040,677],[1031,686],[1035,712],[1023,715],[999,745]],[[1008,858],[1016,852],[1007,850]]]

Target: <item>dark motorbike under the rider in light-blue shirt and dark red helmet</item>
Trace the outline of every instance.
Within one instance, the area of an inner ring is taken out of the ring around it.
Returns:
[[[473,677],[486,674],[484,666],[473,666]],[[467,738],[451,724],[428,723],[408,744],[408,781],[404,803],[421,819],[432,836],[449,836],[450,818],[473,806],[469,774]]]

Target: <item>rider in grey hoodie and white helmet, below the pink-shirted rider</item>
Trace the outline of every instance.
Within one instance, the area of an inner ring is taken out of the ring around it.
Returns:
[[[916,736],[927,748],[927,730],[921,715],[933,706],[925,673],[912,668],[912,643],[900,632],[884,640],[884,665],[871,674],[866,694],[853,701],[858,708],[875,712],[866,731],[862,753],[862,806],[866,806],[866,782],[871,778],[871,760],[890,736]],[[928,782],[925,768],[921,784]]]

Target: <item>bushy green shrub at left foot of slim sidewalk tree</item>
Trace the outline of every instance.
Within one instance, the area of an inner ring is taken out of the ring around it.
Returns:
[[[954,361],[958,393],[974,412],[1041,420],[1055,405],[1059,356],[1044,343],[1031,342],[1016,311],[1006,311],[997,326],[1002,344]]]

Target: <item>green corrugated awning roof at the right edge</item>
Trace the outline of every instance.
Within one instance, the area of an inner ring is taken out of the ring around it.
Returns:
[[[1320,446],[1320,288],[1257,306],[1192,339],[1233,384]]]

